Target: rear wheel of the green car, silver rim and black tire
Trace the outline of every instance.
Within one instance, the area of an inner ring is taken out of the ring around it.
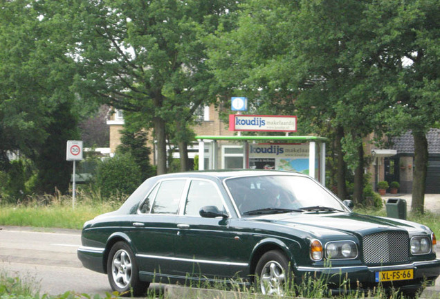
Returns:
[[[107,276],[113,291],[120,296],[142,296],[149,287],[149,282],[139,280],[139,269],[134,253],[125,242],[116,242],[111,247],[107,260]]]

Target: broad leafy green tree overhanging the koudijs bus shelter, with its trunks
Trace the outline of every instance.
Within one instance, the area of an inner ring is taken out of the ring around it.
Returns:
[[[372,132],[376,106],[368,104],[377,96],[368,77],[373,63],[360,52],[369,38],[360,22],[365,3],[253,0],[241,8],[237,28],[210,39],[216,78],[260,109],[297,114],[300,132],[336,138],[339,196],[346,198],[350,165],[363,201],[362,141]]]

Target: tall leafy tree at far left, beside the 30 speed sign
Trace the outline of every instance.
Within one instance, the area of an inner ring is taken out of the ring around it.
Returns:
[[[63,3],[30,0],[3,1],[0,10],[0,156],[35,161],[40,192],[67,190],[66,140],[76,136],[64,12]]]

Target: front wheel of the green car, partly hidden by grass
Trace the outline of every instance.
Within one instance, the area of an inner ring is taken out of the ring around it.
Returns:
[[[293,272],[286,255],[279,250],[264,253],[255,268],[254,283],[266,295],[284,296],[292,291]]]

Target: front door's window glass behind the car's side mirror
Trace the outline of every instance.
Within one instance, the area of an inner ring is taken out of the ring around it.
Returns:
[[[188,191],[184,215],[199,216],[203,206],[217,206],[224,211],[223,202],[215,185],[209,181],[193,180]]]

